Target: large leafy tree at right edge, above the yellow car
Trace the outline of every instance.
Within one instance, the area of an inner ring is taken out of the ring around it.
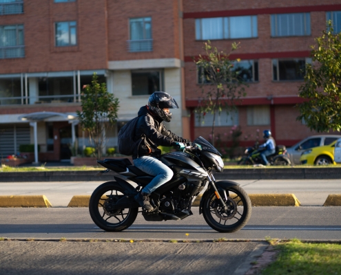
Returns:
[[[299,96],[304,102],[298,105],[298,120],[318,132],[341,129],[341,34],[329,28],[315,39],[311,46],[313,64],[307,64],[304,85]]]

